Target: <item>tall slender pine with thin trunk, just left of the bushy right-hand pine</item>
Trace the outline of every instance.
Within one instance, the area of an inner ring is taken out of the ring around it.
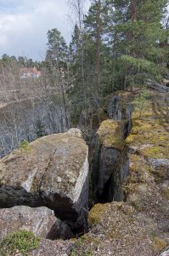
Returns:
[[[85,29],[88,37],[88,55],[93,63],[96,89],[95,93],[101,98],[103,94],[103,73],[104,60],[106,58],[105,28],[107,5],[104,0],[93,0],[86,19],[84,20]]]

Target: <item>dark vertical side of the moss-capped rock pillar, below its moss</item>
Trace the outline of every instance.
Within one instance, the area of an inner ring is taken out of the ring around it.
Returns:
[[[125,159],[122,159],[124,155]],[[99,160],[98,165],[97,160]],[[122,153],[115,148],[101,146],[99,159],[95,157],[93,169],[96,172],[93,183],[95,189],[97,188],[95,191],[98,200],[103,202],[124,200],[122,184],[125,183],[129,170],[127,152]]]

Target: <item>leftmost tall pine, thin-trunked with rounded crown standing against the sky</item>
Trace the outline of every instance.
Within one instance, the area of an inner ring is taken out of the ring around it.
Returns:
[[[60,118],[62,131],[69,128],[68,119],[68,101],[67,101],[67,84],[68,84],[68,47],[65,39],[58,29],[49,30],[48,33],[48,50],[46,54],[46,66],[48,68],[51,85],[59,96]]]

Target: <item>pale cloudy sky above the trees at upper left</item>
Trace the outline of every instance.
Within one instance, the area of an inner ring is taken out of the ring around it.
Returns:
[[[86,11],[89,0],[86,0]],[[67,0],[0,0],[0,56],[42,60],[47,32],[54,27],[70,41],[73,23]]]

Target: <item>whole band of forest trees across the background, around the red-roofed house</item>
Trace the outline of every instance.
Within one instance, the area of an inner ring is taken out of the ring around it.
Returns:
[[[22,99],[57,95],[63,130],[79,126],[88,135],[102,120],[104,99],[115,90],[144,89],[146,79],[169,79],[168,1],[93,0],[87,15],[82,0],[69,4],[76,17],[70,44],[54,28],[47,33],[44,61],[3,55],[1,90],[19,90]],[[20,80],[22,67],[37,67],[42,77]]]

